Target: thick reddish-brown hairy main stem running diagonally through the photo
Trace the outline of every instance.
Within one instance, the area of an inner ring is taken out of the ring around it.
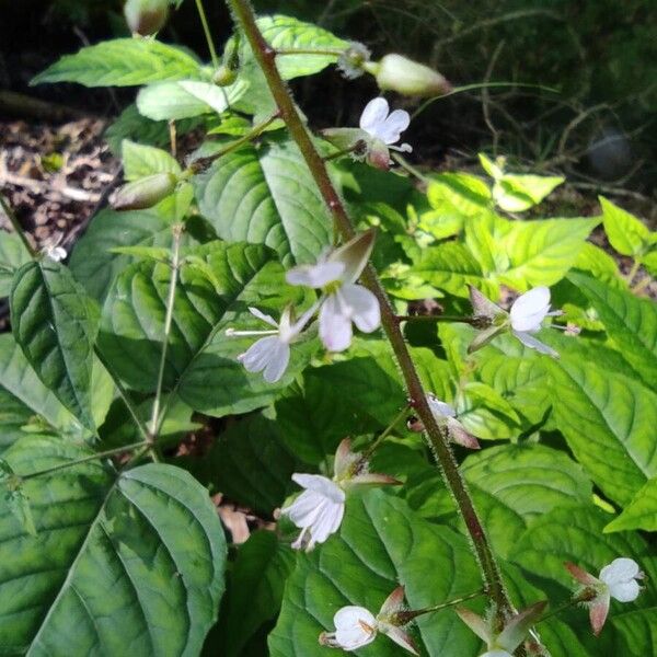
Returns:
[[[343,239],[345,241],[349,240],[355,234],[354,226],[347,216],[345,206],[343,205],[337,191],[333,186],[326,165],[315,149],[306,125],[289,95],[288,88],[276,68],[276,50],[267,44],[258,30],[255,22],[255,14],[247,0],[227,0],[227,2],[231,7],[237,22],[251,44],[254,57],[267,80],[267,84],[276,101],[280,116],[287,125],[290,136],[299,147],[308,169],[314,178],[326,206],[333,215],[333,220]],[[497,606],[502,624],[507,618],[510,618],[512,613],[511,603],[504,586],[499,566],[497,565],[497,561],[484,532],[484,528],[474,508],[470,493],[468,492],[465,481],[461,476],[459,465],[449,446],[449,437],[446,433],[441,431],[434,418],[419,376],[415,369],[408,348],[406,347],[404,336],[400,331],[396,315],[371,264],[366,267],[361,279],[365,286],[377,297],[381,308],[381,323],[396,356],[410,397],[414,400],[417,415],[425,426],[429,445],[434,450],[436,459],[440,464],[442,475],[451,489],[463,517],[468,533],[472,540],[475,556],[477,557],[482,569],[486,590],[489,591],[491,597]]]

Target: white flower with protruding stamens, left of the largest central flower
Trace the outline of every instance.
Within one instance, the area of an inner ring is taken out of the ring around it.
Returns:
[[[303,313],[298,322],[291,321],[291,308],[286,308],[280,315],[280,323],[276,323],[274,318],[257,310],[250,308],[249,312],[258,320],[273,326],[270,331],[234,331],[228,328],[227,335],[246,336],[246,335],[265,335],[257,342],[253,343],[246,351],[238,356],[238,360],[244,366],[249,372],[263,372],[263,377],[267,383],[278,381],[290,361],[290,343],[295,342],[308,320],[314,314],[316,306]]]

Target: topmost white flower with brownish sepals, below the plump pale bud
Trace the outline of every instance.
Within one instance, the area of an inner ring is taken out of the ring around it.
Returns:
[[[322,136],[341,150],[351,150],[354,157],[365,158],[377,169],[389,169],[390,150],[412,152],[408,143],[395,146],[411,124],[405,110],[390,112],[383,97],[372,99],[360,115],[359,128],[328,128]],[[361,146],[362,148],[358,148]]]

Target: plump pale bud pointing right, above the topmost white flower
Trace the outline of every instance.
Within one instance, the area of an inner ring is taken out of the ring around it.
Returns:
[[[365,62],[364,68],[374,76],[382,91],[434,96],[452,90],[452,85],[438,71],[401,55],[385,55],[381,61]]]

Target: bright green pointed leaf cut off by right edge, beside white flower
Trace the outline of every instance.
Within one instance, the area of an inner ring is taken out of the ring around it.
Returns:
[[[598,311],[623,358],[649,388],[657,388],[657,307],[650,299],[616,290],[578,273],[568,279]]]

